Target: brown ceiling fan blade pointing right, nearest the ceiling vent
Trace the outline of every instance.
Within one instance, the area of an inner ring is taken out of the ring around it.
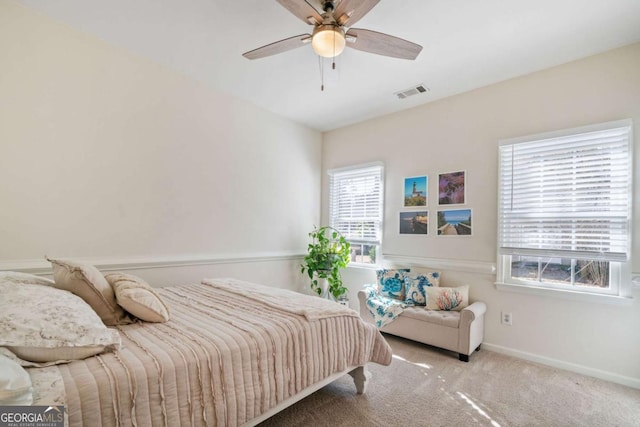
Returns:
[[[422,50],[419,44],[377,31],[351,28],[347,31],[347,41],[350,37],[355,37],[354,42],[347,43],[350,48],[393,58],[416,59]]]

